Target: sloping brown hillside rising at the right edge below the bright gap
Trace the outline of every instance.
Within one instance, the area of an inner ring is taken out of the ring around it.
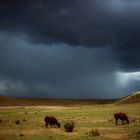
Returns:
[[[140,91],[120,99],[117,104],[140,103]]]

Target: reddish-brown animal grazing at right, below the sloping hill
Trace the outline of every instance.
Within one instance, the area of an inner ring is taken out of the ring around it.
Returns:
[[[124,121],[126,121],[127,124],[129,124],[128,116],[125,113],[119,112],[114,114],[115,122],[117,125],[118,119],[122,120],[122,124],[124,124]]]

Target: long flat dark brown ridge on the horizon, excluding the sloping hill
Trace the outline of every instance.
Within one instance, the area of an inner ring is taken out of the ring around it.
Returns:
[[[47,99],[47,98],[14,98],[0,96],[0,106],[78,106],[92,104],[110,104],[114,99]]]

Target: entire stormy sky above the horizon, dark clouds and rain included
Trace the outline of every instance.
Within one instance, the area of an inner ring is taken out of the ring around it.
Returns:
[[[137,90],[139,0],[0,1],[0,95],[120,98]]]

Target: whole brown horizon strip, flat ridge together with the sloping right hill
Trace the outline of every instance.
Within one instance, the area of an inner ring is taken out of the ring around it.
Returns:
[[[45,98],[14,98],[8,96],[0,96],[0,106],[75,106],[75,105],[92,105],[92,104],[131,104],[140,103],[140,91],[121,99],[103,100],[103,99],[89,99],[89,100],[72,100],[72,99],[45,99]]]

